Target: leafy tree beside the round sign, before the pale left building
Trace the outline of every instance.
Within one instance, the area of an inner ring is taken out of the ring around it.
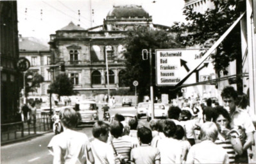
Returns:
[[[44,77],[38,74],[38,72],[33,72],[28,70],[25,74],[26,92],[25,97],[28,97],[30,92],[36,92],[37,88],[40,87],[40,83],[44,82]]]

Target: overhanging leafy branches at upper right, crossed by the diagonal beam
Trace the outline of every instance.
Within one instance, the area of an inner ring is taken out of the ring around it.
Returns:
[[[187,24],[175,22],[172,31],[177,33],[176,40],[185,46],[201,45],[210,47],[232,23],[239,17],[240,13],[236,10],[236,0],[211,0],[214,9],[208,9],[205,13],[194,12],[192,8],[185,7],[183,15],[188,21]],[[233,61],[241,56],[241,35],[240,25],[232,30],[228,37],[212,54],[214,68],[216,72],[223,70],[227,73],[226,67],[229,61]]]

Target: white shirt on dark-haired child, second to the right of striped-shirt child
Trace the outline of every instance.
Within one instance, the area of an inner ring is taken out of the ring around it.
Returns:
[[[182,163],[182,145],[178,140],[160,139],[157,148],[160,151],[161,163]]]

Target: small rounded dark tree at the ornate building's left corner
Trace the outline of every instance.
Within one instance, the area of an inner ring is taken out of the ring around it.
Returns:
[[[73,83],[71,82],[71,79],[67,77],[67,74],[59,74],[55,81],[51,83],[49,86],[53,94],[58,94],[58,99],[60,100],[60,97],[62,95],[74,95],[75,92],[73,90]]]

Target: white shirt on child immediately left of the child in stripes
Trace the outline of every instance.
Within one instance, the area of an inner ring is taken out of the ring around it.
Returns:
[[[111,145],[95,138],[91,143],[95,164],[114,164],[115,156]]]

